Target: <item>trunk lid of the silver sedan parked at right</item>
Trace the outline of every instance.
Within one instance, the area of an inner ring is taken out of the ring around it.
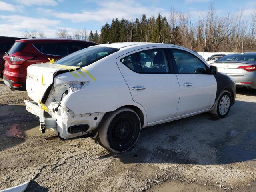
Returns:
[[[211,65],[216,66],[218,68],[218,72],[226,73],[230,76],[242,76],[248,71],[239,67],[255,65],[255,62],[213,62]]]

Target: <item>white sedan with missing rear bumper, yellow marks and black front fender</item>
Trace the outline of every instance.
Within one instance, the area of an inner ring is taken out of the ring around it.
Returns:
[[[224,118],[235,102],[232,78],[184,47],[110,43],[56,63],[28,67],[26,109],[41,132],[62,139],[92,136],[113,152],[138,140],[140,129],[203,112]],[[206,120],[207,121],[207,120]]]

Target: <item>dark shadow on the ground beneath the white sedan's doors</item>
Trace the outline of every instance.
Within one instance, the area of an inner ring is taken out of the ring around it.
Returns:
[[[135,146],[106,154],[129,163],[229,164],[256,158],[256,103],[236,101],[224,119],[200,114],[141,130]],[[254,164],[255,166],[255,164]]]

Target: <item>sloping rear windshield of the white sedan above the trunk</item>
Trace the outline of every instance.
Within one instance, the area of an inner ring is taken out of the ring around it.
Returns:
[[[88,47],[80,51],[74,52],[66,57],[61,58],[56,62],[60,65],[68,66],[88,66],[114,52],[117,52],[119,49],[110,48],[110,47]]]

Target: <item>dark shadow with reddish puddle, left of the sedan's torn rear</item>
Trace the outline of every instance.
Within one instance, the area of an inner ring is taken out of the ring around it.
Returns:
[[[22,105],[0,105],[0,151],[25,141],[38,126],[38,118]]]

